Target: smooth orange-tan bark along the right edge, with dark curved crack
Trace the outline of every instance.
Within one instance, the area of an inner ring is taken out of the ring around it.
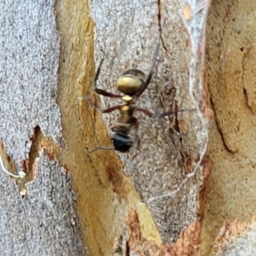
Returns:
[[[256,253],[255,8],[251,1],[214,1],[207,17],[207,81],[215,122],[209,130],[214,167],[203,255]]]

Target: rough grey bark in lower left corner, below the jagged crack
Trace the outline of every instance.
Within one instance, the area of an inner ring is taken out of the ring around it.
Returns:
[[[71,175],[44,152],[37,167],[23,197],[1,172],[1,255],[86,255]]]

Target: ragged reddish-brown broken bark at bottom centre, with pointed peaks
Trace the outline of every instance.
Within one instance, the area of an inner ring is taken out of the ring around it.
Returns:
[[[171,246],[157,246],[154,241],[145,239],[137,212],[129,212],[126,226],[119,239],[114,243],[113,256],[147,255],[147,256],[190,256],[200,255],[201,224],[195,222],[180,235],[177,243]]]

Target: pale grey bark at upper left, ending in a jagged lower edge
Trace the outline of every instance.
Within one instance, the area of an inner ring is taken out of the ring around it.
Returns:
[[[63,146],[55,102],[60,39],[54,3],[0,2],[0,139],[18,171],[37,125]]]

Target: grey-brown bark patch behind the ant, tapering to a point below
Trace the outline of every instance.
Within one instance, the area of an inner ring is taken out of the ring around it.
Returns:
[[[203,81],[207,6],[207,2],[196,5],[192,1],[90,1],[96,23],[96,66],[104,58],[98,88],[116,93],[116,80],[127,68],[148,74],[162,20],[166,20],[154,79],[138,104],[153,113],[197,109],[175,117],[180,137],[170,132],[170,119],[139,116],[137,144],[127,154],[138,171],[125,168],[125,173],[132,177],[143,201],[155,199],[148,208],[166,242],[171,237],[176,240],[200,211],[197,194],[207,149],[207,119],[201,108],[209,108]],[[113,99],[102,97],[102,108],[114,104]],[[104,114],[103,119],[110,127],[116,114]],[[168,196],[161,199],[161,195]]]

